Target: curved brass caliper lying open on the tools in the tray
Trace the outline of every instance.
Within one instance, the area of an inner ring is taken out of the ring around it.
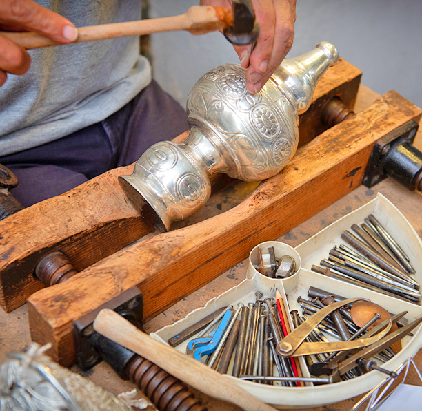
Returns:
[[[312,355],[321,352],[333,352],[333,351],[345,351],[354,350],[374,344],[379,341],[384,335],[388,333],[392,323],[389,322],[386,328],[382,330],[379,335],[374,337],[356,339],[354,341],[335,341],[335,342],[303,342],[308,337],[312,330],[325,318],[327,315],[332,313],[337,308],[352,304],[354,302],[363,301],[363,298],[352,298],[345,299],[341,302],[330,304],[325,308],[321,308],[318,313],[314,313],[310,319],[303,322],[296,330],[287,335],[282,341],[276,346],[277,353],[281,357],[298,357],[300,355]]]

